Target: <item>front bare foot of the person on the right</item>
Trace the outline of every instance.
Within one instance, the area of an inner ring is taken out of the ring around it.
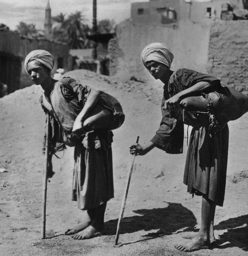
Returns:
[[[209,247],[210,247],[210,242],[203,240],[203,238],[199,236],[193,238],[190,242],[186,244],[175,245],[175,248],[177,250],[184,251],[184,252],[192,252],[200,249],[208,249]]]

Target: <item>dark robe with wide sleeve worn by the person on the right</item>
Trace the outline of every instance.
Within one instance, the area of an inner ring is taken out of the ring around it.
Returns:
[[[172,74],[168,85],[164,86],[161,108],[165,100],[200,81],[214,85],[214,90],[222,88],[220,80],[213,76],[179,69]],[[183,152],[183,116],[163,109],[162,116],[160,127],[151,141],[167,153]],[[223,205],[225,194],[228,135],[227,125],[212,138],[208,133],[208,125],[193,127],[184,170],[184,184],[188,186],[188,192],[206,195],[219,206]]]

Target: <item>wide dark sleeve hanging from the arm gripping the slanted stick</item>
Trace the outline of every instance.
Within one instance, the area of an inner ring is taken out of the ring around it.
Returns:
[[[155,136],[152,138],[156,147],[169,154],[183,153],[184,126],[183,121],[170,117],[170,112],[163,109],[165,97],[162,99],[162,120]]]

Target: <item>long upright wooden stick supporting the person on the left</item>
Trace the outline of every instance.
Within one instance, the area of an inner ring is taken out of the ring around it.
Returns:
[[[50,127],[50,117],[47,114],[47,127],[46,127],[46,147],[45,147],[45,170],[44,170],[44,182],[43,182],[43,202],[42,202],[42,218],[43,218],[43,225],[42,225],[42,232],[41,232],[41,239],[45,239],[46,237],[46,203],[47,203],[47,168],[48,168],[48,143],[49,143],[49,127]]]

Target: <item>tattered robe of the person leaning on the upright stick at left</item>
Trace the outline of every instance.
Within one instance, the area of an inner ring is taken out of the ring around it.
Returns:
[[[63,132],[70,135],[74,120],[82,110],[89,93],[89,86],[81,85],[72,78],[62,78],[55,83],[49,95],[43,93],[41,96],[41,106],[50,114],[52,124],[52,153],[64,148]],[[111,102],[110,95],[109,102],[106,93],[100,92],[100,95],[102,106],[112,110],[121,125],[124,121],[121,106],[117,101]],[[77,201],[79,209],[95,208],[114,197],[112,137],[112,131],[97,131],[76,139],[72,200]]]

